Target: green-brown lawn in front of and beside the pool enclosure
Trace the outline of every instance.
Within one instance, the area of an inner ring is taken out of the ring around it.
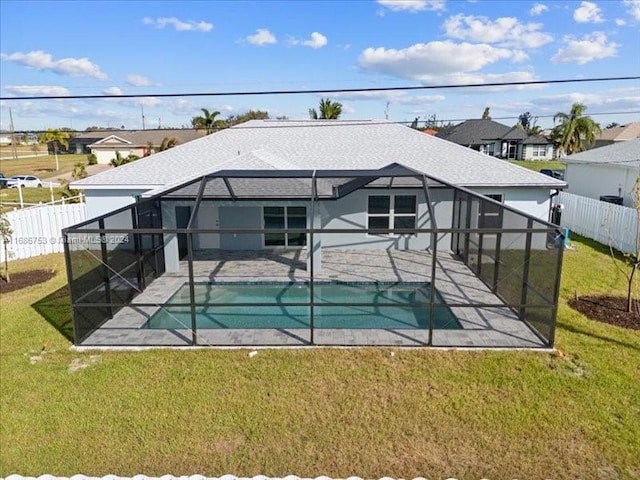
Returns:
[[[638,478],[640,332],[567,307],[624,291],[598,244],[572,242],[561,354],[77,353],[62,256],[14,262],[57,275],[0,297],[0,475]]]

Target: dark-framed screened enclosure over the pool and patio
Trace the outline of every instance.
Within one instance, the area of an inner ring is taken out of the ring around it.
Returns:
[[[394,164],[227,170],[63,232],[78,346],[553,346],[562,233]]]

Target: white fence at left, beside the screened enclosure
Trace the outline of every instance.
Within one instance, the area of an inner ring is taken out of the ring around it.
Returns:
[[[9,260],[17,260],[63,252],[61,230],[86,220],[87,206],[84,202],[41,205],[7,212],[5,216],[13,230],[7,245]],[[4,261],[4,248],[0,248],[0,261]]]

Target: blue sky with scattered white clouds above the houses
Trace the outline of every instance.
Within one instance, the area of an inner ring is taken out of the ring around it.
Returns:
[[[201,108],[308,119],[543,128],[582,102],[640,121],[640,81],[415,91],[117,98],[122,94],[442,86],[640,76],[640,0],[0,1],[0,129],[188,127]],[[109,94],[108,99],[11,100]],[[631,112],[631,113],[629,113]]]

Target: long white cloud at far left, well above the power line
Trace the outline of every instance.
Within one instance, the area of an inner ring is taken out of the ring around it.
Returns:
[[[0,59],[6,62],[15,62],[36,70],[50,70],[60,75],[72,77],[93,77],[104,80],[107,75],[100,70],[100,67],[91,62],[88,58],[61,58],[54,60],[50,53],[42,50],[34,50],[29,53],[16,52],[10,55],[0,54]]]

